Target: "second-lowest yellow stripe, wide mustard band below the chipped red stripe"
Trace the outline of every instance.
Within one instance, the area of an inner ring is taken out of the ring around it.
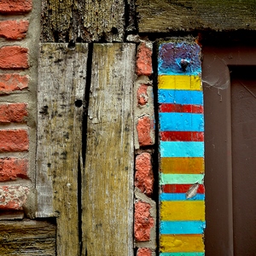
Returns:
[[[205,220],[205,201],[161,201],[161,220]]]

